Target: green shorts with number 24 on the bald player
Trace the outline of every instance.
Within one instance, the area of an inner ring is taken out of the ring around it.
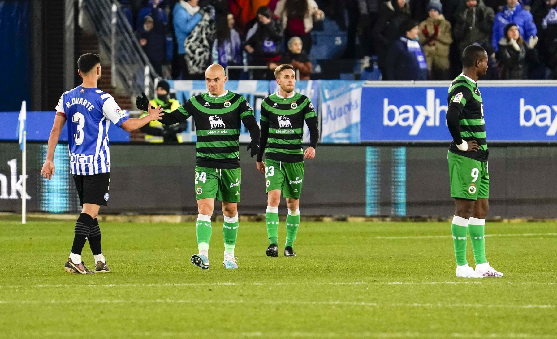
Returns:
[[[216,198],[224,202],[240,202],[242,172],[196,166],[196,199]]]

